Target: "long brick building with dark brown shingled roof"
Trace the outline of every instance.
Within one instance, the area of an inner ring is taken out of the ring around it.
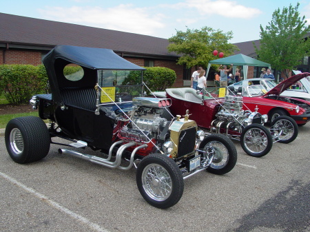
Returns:
[[[0,13],[0,32],[0,65],[39,65],[45,54],[55,45],[62,44],[109,48],[136,65],[169,67],[176,72],[174,87],[190,85],[190,75],[194,71],[194,68],[188,70],[183,65],[176,65],[180,56],[167,51],[169,41],[154,36],[3,13]],[[235,54],[242,53],[255,58],[253,42],[259,47],[259,40],[235,43],[240,48]],[[309,72],[309,59],[307,62],[302,67],[304,72]],[[259,74],[258,68],[249,67],[248,76],[256,77]],[[214,72],[209,74],[207,80],[208,85],[213,83]]]

